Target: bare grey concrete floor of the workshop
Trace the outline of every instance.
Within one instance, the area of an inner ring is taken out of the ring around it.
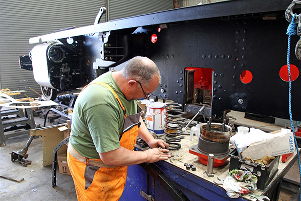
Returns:
[[[36,124],[41,119],[36,119]],[[42,120],[43,121],[43,120]],[[43,125],[43,124],[41,124]],[[51,125],[51,124],[48,124]],[[28,160],[32,161],[27,167],[19,162],[11,162],[11,152],[21,151],[29,135],[9,138],[6,146],[0,147],[0,174],[6,173],[24,178],[20,183],[0,178],[0,200],[3,201],[75,201],[76,193],[71,176],[57,171],[57,186],[52,188],[52,166],[43,167],[42,137],[35,138],[28,150]],[[299,174],[298,174],[299,176]],[[33,189],[36,191],[32,192]],[[279,201],[297,201],[292,193],[281,190]]]

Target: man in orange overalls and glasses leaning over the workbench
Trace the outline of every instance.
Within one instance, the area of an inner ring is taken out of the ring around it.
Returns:
[[[123,70],[107,72],[82,90],[74,106],[67,152],[78,200],[119,200],[128,165],[171,157],[169,145],[154,139],[146,128],[136,101],[148,98],[160,79],[158,67],[138,56]],[[133,151],[137,135],[152,149]]]

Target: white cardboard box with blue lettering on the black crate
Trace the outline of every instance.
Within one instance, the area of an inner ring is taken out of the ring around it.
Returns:
[[[272,132],[272,134],[279,133]],[[294,134],[284,134],[271,139],[251,144],[241,153],[242,158],[250,157],[252,160],[258,160],[264,156],[280,156],[295,152]]]

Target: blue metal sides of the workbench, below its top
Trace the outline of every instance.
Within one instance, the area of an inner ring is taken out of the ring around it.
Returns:
[[[191,201],[244,201],[242,198],[231,199],[226,195],[225,189],[205,179],[199,178],[168,162],[155,163]],[[121,201],[145,201],[140,196],[140,190],[151,195],[157,201],[173,201],[171,196],[160,186],[159,181],[153,179],[140,165],[128,167],[126,187]]]

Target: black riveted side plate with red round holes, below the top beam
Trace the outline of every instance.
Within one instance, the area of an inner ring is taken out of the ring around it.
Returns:
[[[280,68],[286,64],[288,22],[262,17],[245,19],[207,19],[181,22],[157,33],[149,55],[160,68],[164,93],[153,95],[184,103],[186,67],[210,67],[214,70],[212,114],[222,117],[224,110],[235,110],[289,118],[288,83],[281,80]],[[291,52],[299,37],[292,37]],[[295,56],[291,64],[301,67]],[[249,70],[253,79],[243,84],[240,73]],[[294,119],[301,119],[298,86],[293,82]],[[239,104],[238,100],[243,103]]]

